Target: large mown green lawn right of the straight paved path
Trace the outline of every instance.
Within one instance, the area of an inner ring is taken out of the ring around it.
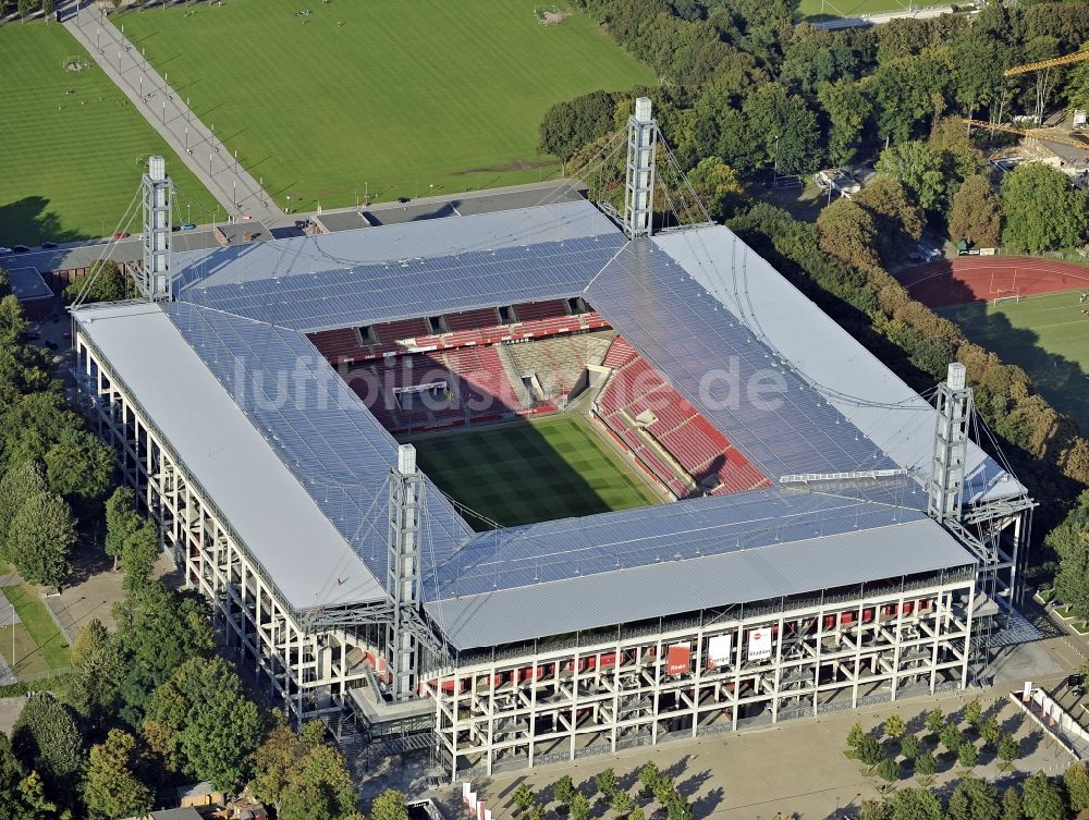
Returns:
[[[551,105],[654,83],[587,16],[546,27],[533,10],[229,0],[120,22],[281,207],[305,210],[536,182],[559,166],[536,150]]]

